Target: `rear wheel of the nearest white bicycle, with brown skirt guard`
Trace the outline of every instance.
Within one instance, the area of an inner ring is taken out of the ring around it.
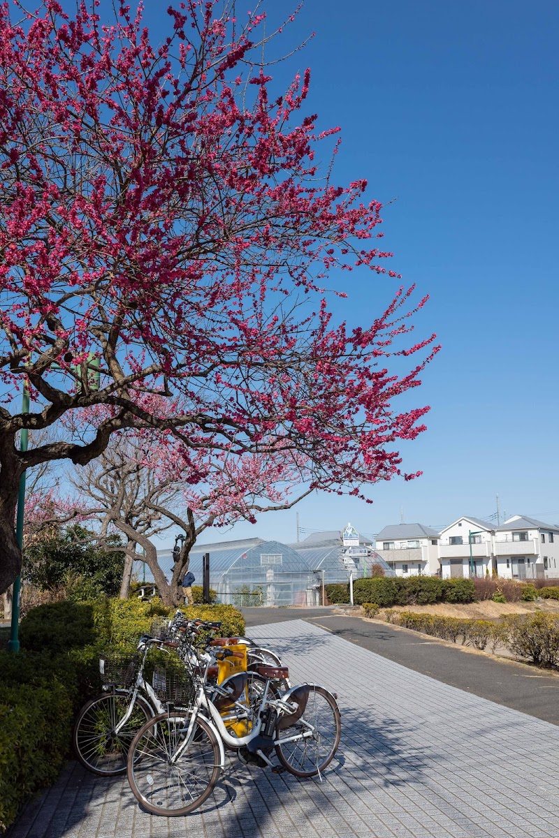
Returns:
[[[341,731],[339,707],[334,696],[322,686],[309,686],[303,714],[290,727],[283,728],[280,738],[311,730],[312,736],[276,746],[280,763],[296,777],[315,777],[329,765],[338,750]]]

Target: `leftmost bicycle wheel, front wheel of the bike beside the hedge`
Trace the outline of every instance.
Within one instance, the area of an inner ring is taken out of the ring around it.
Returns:
[[[148,703],[137,697],[132,716],[116,733],[116,725],[129,706],[130,695],[127,692],[104,692],[81,708],[75,720],[72,742],[80,763],[91,773],[113,777],[127,770],[132,739],[153,716]]]

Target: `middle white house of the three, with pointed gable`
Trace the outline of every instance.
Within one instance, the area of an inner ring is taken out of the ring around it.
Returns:
[[[491,576],[496,570],[493,532],[493,524],[468,515],[441,530],[438,557],[443,579]]]

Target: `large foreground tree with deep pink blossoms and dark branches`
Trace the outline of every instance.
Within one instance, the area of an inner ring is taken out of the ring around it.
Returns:
[[[391,403],[435,351],[406,339],[424,300],[396,287],[363,328],[334,321],[332,272],[385,271],[380,204],[321,175],[334,132],[298,116],[308,72],[272,93],[263,15],[231,9],[186,0],[154,45],[122,2],[111,23],[85,0],[72,18],[0,5],[0,591],[23,469],[89,463],[115,432],[171,432],[193,462],[297,453],[310,489],[364,495],[422,431],[426,407]],[[54,442],[18,451],[47,427]]]

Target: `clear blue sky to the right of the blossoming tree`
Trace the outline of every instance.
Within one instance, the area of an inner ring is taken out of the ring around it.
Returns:
[[[286,38],[312,31],[277,75],[310,66],[309,111],[342,127],[339,181],[365,177],[370,197],[397,199],[383,213],[385,244],[406,282],[431,295],[417,329],[434,330],[443,350],[414,393],[432,406],[428,430],[401,449],[422,478],[371,487],[373,505],[307,499],[300,525],[350,520],[375,533],[401,510],[445,525],[493,514],[497,493],[501,515],[559,521],[559,6],[307,0]],[[352,282],[349,306],[374,315],[387,281]],[[294,534],[292,510],[231,535]]]

